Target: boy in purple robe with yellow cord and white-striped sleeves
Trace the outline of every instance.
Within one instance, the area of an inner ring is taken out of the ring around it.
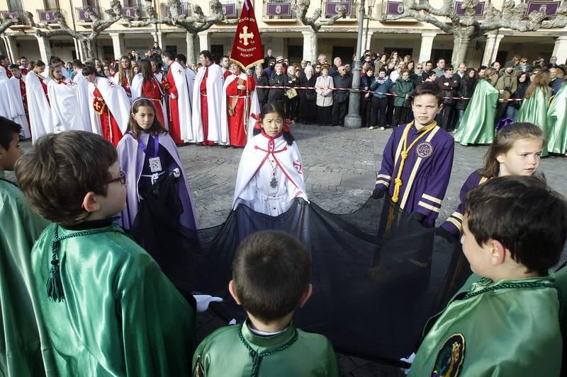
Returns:
[[[414,120],[393,129],[372,193],[378,199],[388,192],[392,202],[427,227],[434,226],[439,215],[453,166],[453,137],[434,120],[441,101],[434,83],[415,88]]]

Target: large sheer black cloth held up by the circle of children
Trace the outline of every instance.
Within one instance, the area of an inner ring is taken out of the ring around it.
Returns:
[[[239,323],[245,312],[228,292],[232,258],[249,234],[266,229],[291,233],[313,261],[313,295],[296,311],[294,324],[327,336],[337,351],[400,363],[417,349],[431,315],[470,276],[457,240],[424,228],[397,204],[369,199],[351,214],[337,215],[296,199],[280,216],[244,205],[212,228],[182,228],[164,203],[176,195],[164,175],[159,190],[142,195],[130,236],[142,245],[184,295],[210,294],[218,315]]]

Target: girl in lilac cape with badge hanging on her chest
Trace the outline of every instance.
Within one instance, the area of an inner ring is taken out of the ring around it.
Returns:
[[[128,181],[126,208],[122,211],[118,224],[130,229],[142,199],[141,194],[150,190],[162,175],[174,173],[175,176],[179,175],[174,183],[178,195],[165,205],[172,215],[179,216],[179,224],[196,229],[196,211],[181,158],[175,142],[155,114],[151,100],[135,100],[132,103],[129,131],[118,143],[118,162]]]

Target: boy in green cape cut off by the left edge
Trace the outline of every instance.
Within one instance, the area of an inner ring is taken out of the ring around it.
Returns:
[[[0,117],[0,376],[26,377],[43,374],[26,272],[33,243],[48,223],[4,178],[22,155],[20,131],[20,124]]]

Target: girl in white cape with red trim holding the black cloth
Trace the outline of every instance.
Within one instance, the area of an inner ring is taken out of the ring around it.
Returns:
[[[254,134],[240,158],[232,207],[243,203],[254,211],[278,216],[296,197],[308,200],[303,162],[278,106],[264,105]]]

